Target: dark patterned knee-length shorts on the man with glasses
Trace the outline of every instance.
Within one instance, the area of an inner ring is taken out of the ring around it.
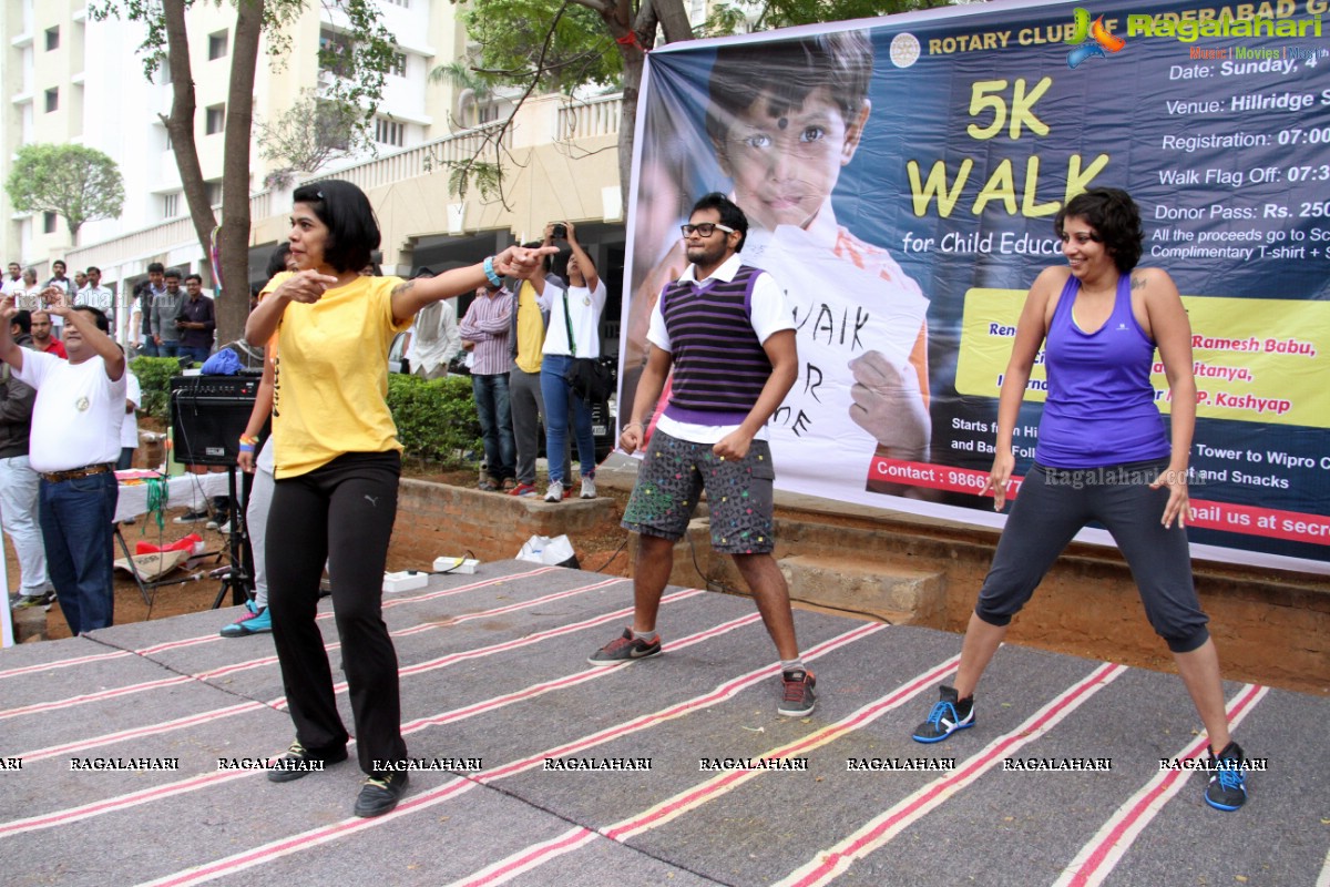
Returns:
[[[705,489],[712,548],[722,555],[767,555],[775,545],[773,480],[775,467],[765,440],[754,440],[743,459],[722,461],[712,444],[689,443],[657,430],[624,509],[624,528],[678,540]]]

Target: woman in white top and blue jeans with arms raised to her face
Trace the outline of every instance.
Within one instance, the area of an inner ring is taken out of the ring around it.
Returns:
[[[564,452],[568,438],[568,415],[573,416],[577,439],[577,463],[581,469],[583,499],[596,497],[596,440],[591,432],[591,404],[575,398],[564,374],[575,358],[600,356],[600,313],[605,309],[605,282],[596,273],[596,265],[577,242],[572,222],[568,229],[568,290],[547,286],[540,297],[540,307],[549,311],[545,326],[544,358],[540,362],[540,392],[545,399],[545,452]],[[572,410],[569,410],[569,406]],[[564,477],[560,460],[549,463],[549,489],[545,501],[564,497],[564,487],[572,483]]]

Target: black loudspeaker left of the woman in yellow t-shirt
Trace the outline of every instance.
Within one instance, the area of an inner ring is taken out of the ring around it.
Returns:
[[[170,427],[176,461],[234,465],[241,435],[258,395],[254,376],[176,376],[170,380]],[[259,435],[267,435],[267,426]]]

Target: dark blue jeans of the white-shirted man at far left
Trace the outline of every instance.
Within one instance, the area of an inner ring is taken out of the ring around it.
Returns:
[[[114,597],[110,565],[116,475],[106,472],[53,484],[41,481],[41,536],[47,570],[72,634],[112,624]]]

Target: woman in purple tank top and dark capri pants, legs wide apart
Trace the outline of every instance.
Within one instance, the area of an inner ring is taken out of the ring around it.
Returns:
[[[1012,430],[1043,347],[1048,399],[1035,463],[970,617],[955,686],[942,688],[914,738],[940,742],[975,725],[975,686],[1011,618],[1072,537],[1099,521],[1127,559],[1150,625],[1205,725],[1212,774],[1205,802],[1237,810],[1246,801],[1245,758],[1229,737],[1218,656],[1192,584],[1184,529],[1196,426],[1186,311],[1166,273],[1136,267],[1144,238],[1127,191],[1085,191],[1059,211],[1053,227],[1067,265],[1044,269],[1029,289],[1001,386],[988,479],[998,511],[1016,464]],[[1150,384],[1156,347],[1172,390],[1168,426]]]

